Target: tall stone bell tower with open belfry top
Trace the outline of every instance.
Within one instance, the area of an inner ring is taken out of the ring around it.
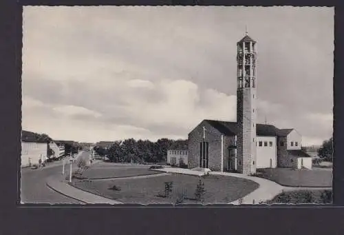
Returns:
[[[256,172],[257,43],[246,36],[237,43],[237,170]]]

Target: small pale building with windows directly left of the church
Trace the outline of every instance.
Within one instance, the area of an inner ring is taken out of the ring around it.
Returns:
[[[187,141],[176,141],[167,150],[167,163],[170,165],[188,165],[188,143]]]

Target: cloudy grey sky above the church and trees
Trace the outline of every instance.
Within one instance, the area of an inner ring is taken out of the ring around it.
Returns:
[[[333,131],[334,8],[23,10],[23,130],[53,139],[187,139],[236,121],[237,41],[257,41],[257,121],[303,145]]]

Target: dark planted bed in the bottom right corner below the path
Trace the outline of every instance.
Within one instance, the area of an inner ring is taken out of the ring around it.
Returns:
[[[273,198],[267,204],[283,203],[283,204],[328,204],[332,203],[332,190],[297,190],[283,192]]]

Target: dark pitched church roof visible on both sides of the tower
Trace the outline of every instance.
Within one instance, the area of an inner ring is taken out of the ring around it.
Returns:
[[[237,134],[237,123],[230,121],[204,120],[220,133],[226,136],[235,136]],[[280,132],[282,130],[282,132]],[[292,129],[278,129],[275,125],[259,124],[256,125],[257,136],[284,136],[285,130]],[[289,133],[288,133],[289,134]]]

